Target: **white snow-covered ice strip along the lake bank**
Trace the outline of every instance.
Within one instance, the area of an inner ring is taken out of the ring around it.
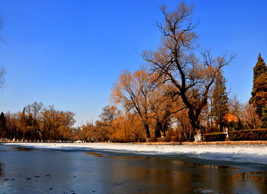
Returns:
[[[155,145],[127,143],[4,143],[41,149],[93,149],[139,154],[188,155],[207,160],[241,161],[267,164],[266,144],[235,145]]]

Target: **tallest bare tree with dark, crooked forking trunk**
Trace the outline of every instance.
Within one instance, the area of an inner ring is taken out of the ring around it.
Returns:
[[[142,56],[152,73],[175,86],[177,90],[172,95],[182,99],[196,134],[200,129],[199,115],[207,104],[216,77],[235,54],[232,52],[227,59],[227,51],[216,57],[212,49],[199,49],[200,59],[195,54],[199,38],[194,29],[199,21],[193,24],[194,6],[182,2],[172,11],[166,5],[160,10],[164,15],[163,23],[156,22],[162,33],[160,44],[155,51],[143,51]]]

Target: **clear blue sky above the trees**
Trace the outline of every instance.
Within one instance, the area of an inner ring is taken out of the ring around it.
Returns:
[[[1,0],[8,18],[0,47],[8,71],[0,112],[22,111],[33,102],[76,113],[75,126],[93,119],[108,104],[110,89],[124,69],[137,70],[137,54],[159,44],[159,6],[179,1],[12,1]],[[195,4],[202,47],[237,57],[225,67],[227,88],[250,98],[259,51],[267,62],[267,1],[186,1]]]

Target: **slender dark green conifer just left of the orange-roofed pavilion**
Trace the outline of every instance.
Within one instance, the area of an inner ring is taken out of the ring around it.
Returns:
[[[218,124],[222,124],[224,122],[225,115],[228,111],[228,100],[226,93],[226,79],[222,76],[221,72],[217,76],[214,90],[213,90],[213,99],[212,99],[212,110],[211,113],[215,122]],[[221,128],[221,127],[220,127]],[[222,128],[220,129],[222,131]]]

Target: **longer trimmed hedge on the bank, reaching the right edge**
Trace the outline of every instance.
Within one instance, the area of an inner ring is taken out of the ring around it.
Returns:
[[[229,131],[228,136],[231,141],[266,141],[267,129]]]

